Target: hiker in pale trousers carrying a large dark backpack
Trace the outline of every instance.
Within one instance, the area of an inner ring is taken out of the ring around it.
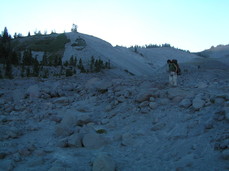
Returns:
[[[174,61],[167,60],[168,72],[169,72],[169,84],[172,86],[177,86],[177,72],[178,67]]]

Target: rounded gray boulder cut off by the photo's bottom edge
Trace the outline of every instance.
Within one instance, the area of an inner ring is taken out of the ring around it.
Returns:
[[[115,162],[106,154],[100,154],[93,162],[92,171],[115,171]]]

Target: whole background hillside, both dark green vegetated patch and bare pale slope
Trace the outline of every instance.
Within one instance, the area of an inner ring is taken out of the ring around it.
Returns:
[[[42,60],[44,53],[49,58],[61,57],[63,63],[71,57],[82,59],[85,66],[89,65],[91,57],[111,63],[114,74],[150,76],[165,66],[167,59],[178,59],[179,63],[191,61],[198,56],[171,47],[131,48],[116,46],[94,36],[70,32],[46,36],[31,36],[13,41],[13,47],[21,52],[31,49],[33,57]]]

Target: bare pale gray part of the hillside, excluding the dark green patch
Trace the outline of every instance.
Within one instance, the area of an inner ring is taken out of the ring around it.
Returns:
[[[127,70],[135,75],[150,76],[155,70],[163,67],[167,59],[176,58],[183,63],[197,58],[196,55],[174,48],[141,48],[140,53],[135,53],[129,48],[113,47],[110,43],[93,36],[81,33],[66,33],[66,35],[71,42],[65,46],[63,60],[68,60],[70,56],[89,60],[91,56],[94,56],[105,61],[110,60],[115,68]],[[71,46],[77,38],[84,39],[87,44],[82,50]]]

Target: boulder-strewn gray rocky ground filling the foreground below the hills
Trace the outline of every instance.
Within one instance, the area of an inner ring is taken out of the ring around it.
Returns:
[[[0,170],[228,170],[229,69],[0,82]]]

